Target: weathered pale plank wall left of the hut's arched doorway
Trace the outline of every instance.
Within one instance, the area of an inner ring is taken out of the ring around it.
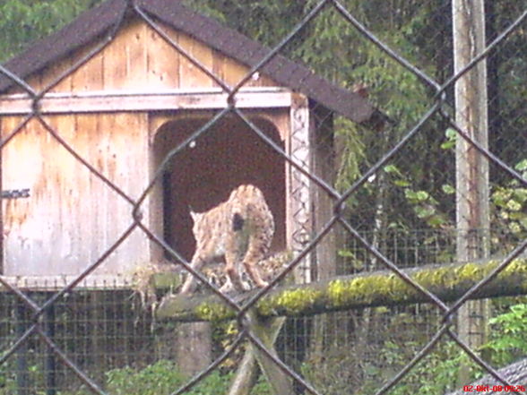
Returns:
[[[17,121],[4,119],[3,130]],[[143,191],[148,181],[146,116],[53,116],[47,121],[128,196],[135,199]],[[3,201],[4,274],[76,274],[97,261],[132,223],[130,203],[36,120],[2,154],[4,189],[30,188],[29,198]],[[134,231],[97,273],[126,274],[148,258],[145,237]]]

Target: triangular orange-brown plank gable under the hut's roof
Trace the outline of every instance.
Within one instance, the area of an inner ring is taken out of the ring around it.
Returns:
[[[168,27],[164,27],[164,30],[190,56],[231,86],[238,83],[249,71],[246,65],[223,56],[186,34]],[[65,73],[96,46],[97,43],[94,43],[82,48],[70,58],[49,66],[39,75],[30,77],[30,85],[37,90],[43,89],[53,82],[57,75]],[[276,83],[261,76],[257,80],[249,80],[245,86],[276,86]],[[199,70],[186,56],[179,54],[157,32],[142,21],[129,21],[108,47],[77,71],[68,74],[51,91],[151,91],[212,87],[218,88],[219,85]]]

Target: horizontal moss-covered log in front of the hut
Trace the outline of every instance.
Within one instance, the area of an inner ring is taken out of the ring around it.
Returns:
[[[405,271],[422,287],[441,300],[460,298],[472,286],[484,279],[500,261],[470,262],[413,268]],[[255,291],[253,291],[255,292]],[[527,259],[511,262],[497,278],[472,297],[516,296],[527,294]],[[253,293],[238,296],[243,304]],[[429,302],[427,296],[410,287],[388,270],[353,276],[341,276],[310,284],[272,289],[256,305],[262,317],[300,316],[328,313],[379,305],[410,305]],[[157,309],[157,317],[176,321],[219,321],[232,319],[236,312],[219,296],[166,296]]]

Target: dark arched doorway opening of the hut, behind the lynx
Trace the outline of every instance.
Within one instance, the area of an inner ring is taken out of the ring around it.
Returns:
[[[168,151],[209,119],[208,116],[177,116],[161,125],[154,138],[154,166],[159,166]],[[281,134],[270,121],[262,117],[251,121],[283,149]],[[221,118],[191,147],[178,152],[163,174],[159,198],[165,240],[190,260],[195,248],[190,208],[198,212],[210,210],[227,200],[238,185],[254,184],[262,189],[275,219],[272,251],[283,250],[286,245],[285,176],[284,159],[249,126],[236,116]]]

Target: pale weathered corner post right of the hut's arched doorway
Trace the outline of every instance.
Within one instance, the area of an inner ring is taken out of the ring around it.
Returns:
[[[290,110],[291,133],[289,153],[298,164],[327,184],[334,182],[333,116],[320,107],[309,109],[307,97],[295,94]],[[318,117],[318,119],[316,118]],[[330,196],[309,177],[289,166],[288,170],[288,246],[300,252],[312,236],[324,228],[333,214]],[[314,270],[315,269],[315,270]],[[336,275],[334,232],[316,245],[305,262],[298,266],[296,282],[311,282]]]

